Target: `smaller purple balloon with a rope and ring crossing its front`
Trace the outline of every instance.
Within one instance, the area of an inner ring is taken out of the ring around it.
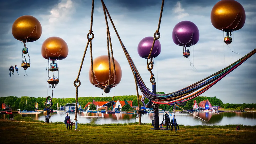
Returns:
[[[143,38],[140,43],[138,44],[138,54],[142,57],[142,58],[145,58],[147,59],[149,53],[150,53],[150,50],[152,48],[152,44],[153,44],[153,41],[154,41],[154,37],[152,36],[148,36],[148,37],[145,37]],[[154,44],[154,47],[152,49],[152,53],[151,53],[151,57],[152,58],[155,58],[157,57],[159,54],[161,53],[161,44],[159,42],[159,40],[157,39],[155,41],[155,44]]]

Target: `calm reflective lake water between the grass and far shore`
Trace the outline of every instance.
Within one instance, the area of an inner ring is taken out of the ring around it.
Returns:
[[[45,121],[46,114],[39,115],[27,115],[34,120]],[[177,123],[183,125],[229,125],[229,124],[243,124],[243,125],[256,125],[256,112],[220,112],[220,113],[196,113],[196,116],[204,119],[199,119],[192,114],[179,114],[175,113]],[[64,122],[66,114],[52,114],[50,122]],[[74,119],[74,114],[69,114],[71,120]],[[89,116],[89,117],[88,117]],[[92,118],[92,116],[97,118]],[[160,114],[160,121],[163,120],[163,113]],[[170,117],[171,118],[171,117]],[[111,123],[131,123],[138,122],[136,114],[80,114],[77,116],[79,123],[89,123],[91,119],[96,119],[97,124],[111,124]],[[153,119],[153,113],[143,114],[142,123],[151,123]]]

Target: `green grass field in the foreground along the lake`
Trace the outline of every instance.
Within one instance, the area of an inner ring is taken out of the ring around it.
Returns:
[[[177,132],[151,130],[150,124],[78,124],[0,121],[0,143],[254,143],[256,126],[180,126]]]

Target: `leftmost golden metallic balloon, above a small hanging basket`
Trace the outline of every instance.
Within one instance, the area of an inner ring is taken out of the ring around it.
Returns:
[[[38,19],[30,15],[17,18],[12,26],[13,37],[23,42],[34,42],[41,37],[42,26]]]

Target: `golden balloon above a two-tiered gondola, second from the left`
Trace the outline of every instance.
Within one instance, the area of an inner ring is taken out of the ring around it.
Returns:
[[[68,56],[68,45],[60,37],[49,37],[42,44],[41,54],[45,59],[61,60]]]

